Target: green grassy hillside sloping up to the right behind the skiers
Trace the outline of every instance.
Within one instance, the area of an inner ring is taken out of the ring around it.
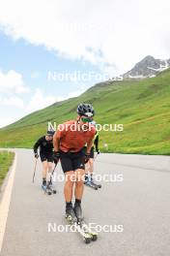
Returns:
[[[100,124],[123,123],[124,132],[100,132],[100,148],[109,152],[170,153],[170,71],[147,80],[100,83],[81,96],[34,112],[0,130],[1,147],[32,147],[47,121],[76,116],[79,103],[92,103]]]

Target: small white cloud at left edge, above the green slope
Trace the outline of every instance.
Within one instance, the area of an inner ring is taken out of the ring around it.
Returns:
[[[25,93],[29,88],[24,85],[22,75],[14,70],[2,73],[0,71],[0,92],[1,93]]]

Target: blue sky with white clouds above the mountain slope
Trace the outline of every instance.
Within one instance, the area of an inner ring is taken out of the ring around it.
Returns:
[[[0,127],[169,58],[169,13],[168,0],[0,0]]]

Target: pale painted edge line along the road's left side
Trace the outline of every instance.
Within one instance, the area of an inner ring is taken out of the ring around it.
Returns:
[[[10,202],[11,202],[11,197],[12,197],[16,162],[17,162],[17,156],[15,153],[14,164],[13,164],[11,174],[9,176],[9,179],[8,179],[5,191],[4,191],[2,201],[0,203],[0,252],[1,252],[2,244],[3,244],[3,240],[4,240],[7,218],[8,218]]]

